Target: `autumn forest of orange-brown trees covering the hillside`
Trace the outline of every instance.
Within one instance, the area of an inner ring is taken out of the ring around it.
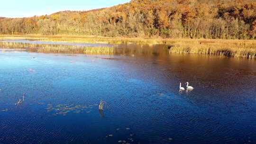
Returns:
[[[0,34],[255,39],[256,0],[131,0],[89,11],[0,18]]]

